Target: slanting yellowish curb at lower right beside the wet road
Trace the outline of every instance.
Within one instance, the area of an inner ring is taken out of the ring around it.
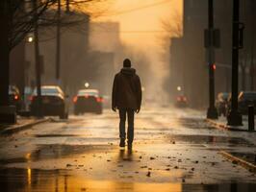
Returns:
[[[220,151],[218,154],[220,154],[221,156],[224,156],[228,160],[232,161],[232,163],[234,163],[234,164],[241,165],[243,168],[247,169],[249,172],[256,173],[256,165],[254,165],[250,162],[247,162],[237,156],[232,156],[231,154],[224,152],[224,151]]]

